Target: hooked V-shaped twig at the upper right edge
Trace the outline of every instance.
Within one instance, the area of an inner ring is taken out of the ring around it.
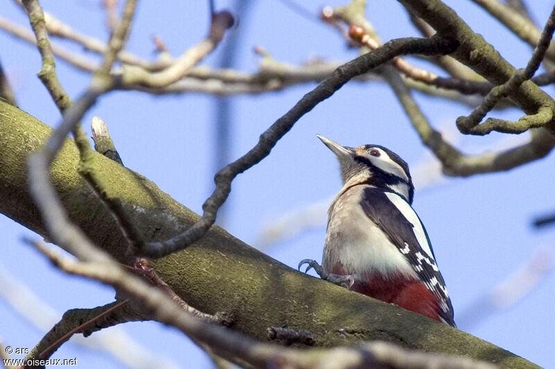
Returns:
[[[552,10],[545,28],[538,42],[538,46],[534,49],[532,56],[525,69],[518,69],[506,83],[495,86],[489,92],[484,101],[477,107],[468,117],[459,117],[456,120],[456,126],[462,133],[472,135],[487,135],[493,130],[506,133],[521,133],[530,128],[539,128],[554,119],[555,103],[547,106],[541,106],[538,112],[533,115],[522,117],[518,122],[502,121],[501,119],[488,119],[484,123],[479,123],[486,114],[493,109],[500,98],[509,96],[525,81],[532,78],[543,60],[549,42],[552,40],[555,30],[555,6]]]

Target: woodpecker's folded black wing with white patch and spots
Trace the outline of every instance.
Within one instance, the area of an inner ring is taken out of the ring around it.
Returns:
[[[453,307],[436,265],[432,245],[411,205],[394,192],[367,187],[361,198],[361,207],[407,258],[426,288],[436,295],[440,302],[441,318],[445,323],[455,326]]]

